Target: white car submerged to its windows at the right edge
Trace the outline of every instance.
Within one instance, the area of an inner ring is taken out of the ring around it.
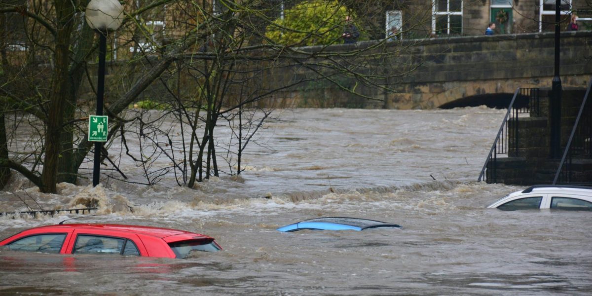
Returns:
[[[556,210],[592,211],[592,187],[570,185],[535,185],[523,191],[512,192],[488,208],[500,210],[529,210],[551,208]]]

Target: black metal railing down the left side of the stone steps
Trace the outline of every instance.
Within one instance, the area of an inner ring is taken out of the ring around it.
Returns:
[[[501,122],[500,130],[497,132],[493,145],[491,145],[487,159],[485,159],[485,164],[477,179],[478,182],[481,180],[491,181],[491,183],[497,182],[498,155],[519,156],[519,114],[540,115],[538,88],[517,88],[516,92],[514,92],[506,116]],[[485,175],[485,169],[487,169],[489,177]]]

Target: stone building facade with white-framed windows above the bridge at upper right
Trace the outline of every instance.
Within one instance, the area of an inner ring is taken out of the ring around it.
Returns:
[[[590,5],[586,0],[561,0],[561,30],[567,29],[572,14],[580,17],[580,30],[590,30]],[[496,24],[495,34],[536,33],[553,31],[555,22],[555,0],[426,0],[386,9],[385,31],[396,25],[411,37],[480,35],[490,22]]]

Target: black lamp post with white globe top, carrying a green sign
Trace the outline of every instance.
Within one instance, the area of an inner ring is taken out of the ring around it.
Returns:
[[[96,85],[96,115],[103,115],[103,94],[105,90],[105,53],[107,34],[117,30],[123,21],[123,7],[116,0],[91,0],[85,11],[86,22],[99,33],[99,76]],[[89,123],[90,124],[90,123]],[[105,127],[107,130],[107,127]],[[95,162],[92,170],[92,186],[99,184],[101,172],[102,141],[95,141]]]

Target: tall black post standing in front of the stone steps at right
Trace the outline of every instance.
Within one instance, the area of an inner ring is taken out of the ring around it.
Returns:
[[[561,78],[559,78],[559,23],[561,22],[561,1],[555,0],[555,73],[551,95],[551,158],[561,157]]]

